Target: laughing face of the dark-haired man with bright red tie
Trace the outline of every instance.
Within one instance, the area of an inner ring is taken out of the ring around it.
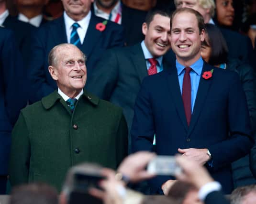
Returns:
[[[153,57],[159,57],[170,49],[170,18],[156,14],[147,25],[143,23],[145,45]]]

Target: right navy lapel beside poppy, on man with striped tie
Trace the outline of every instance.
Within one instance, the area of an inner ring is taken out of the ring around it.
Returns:
[[[97,21],[94,15],[91,15],[85,39],[81,47],[83,53],[87,56],[87,58],[89,58],[89,55],[91,54],[91,51],[93,50],[95,44],[97,44],[97,42],[99,41],[101,33],[104,32],[100,32],[96,29],[97,23],[99,23],[99,21]],[[108,26],[108,24],[106,26]]]

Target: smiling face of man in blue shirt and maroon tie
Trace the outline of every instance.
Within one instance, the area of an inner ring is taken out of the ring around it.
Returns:
[[[198,21],[193,13],[177,13],[172,20],[171,47],[180,64],[193,64],[200,58],[201,42],[205,32],[199,31]]]

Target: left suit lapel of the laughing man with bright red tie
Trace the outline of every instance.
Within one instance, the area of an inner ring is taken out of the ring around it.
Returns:
[[[141,48],[141,44],[135,44],[133,47],[131,47],[131,60],[134,63],[134,67],[136,72],[138,73],[138,76],[140,78],[140,82],[142,83],[145,76],[147,76],[147,67],[145,63],[145,57]]]

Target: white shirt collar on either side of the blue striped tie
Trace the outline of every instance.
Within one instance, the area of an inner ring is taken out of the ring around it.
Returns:
[[[64,11],[64,22],[65,22],[65,26],[66,26],[66,33],[67,33],[67,42],[70,43],[70,34],[72,32],[72,25],[74,22],[78,22],[78,24],[80,25],[80,27],[77,29],[78,31],[78,36],[80,38],[80,42],[81,44],[84,42],[84,38],[85,38],[85,34],[88,30],[88,26],[89,26],[89,21],[91,18],[91,11],[89,11],[89,13],[87,14],[86,17],[84,17],[82,20],[80,21],[74,21],[73,19],[71,19],[66,11]]]

